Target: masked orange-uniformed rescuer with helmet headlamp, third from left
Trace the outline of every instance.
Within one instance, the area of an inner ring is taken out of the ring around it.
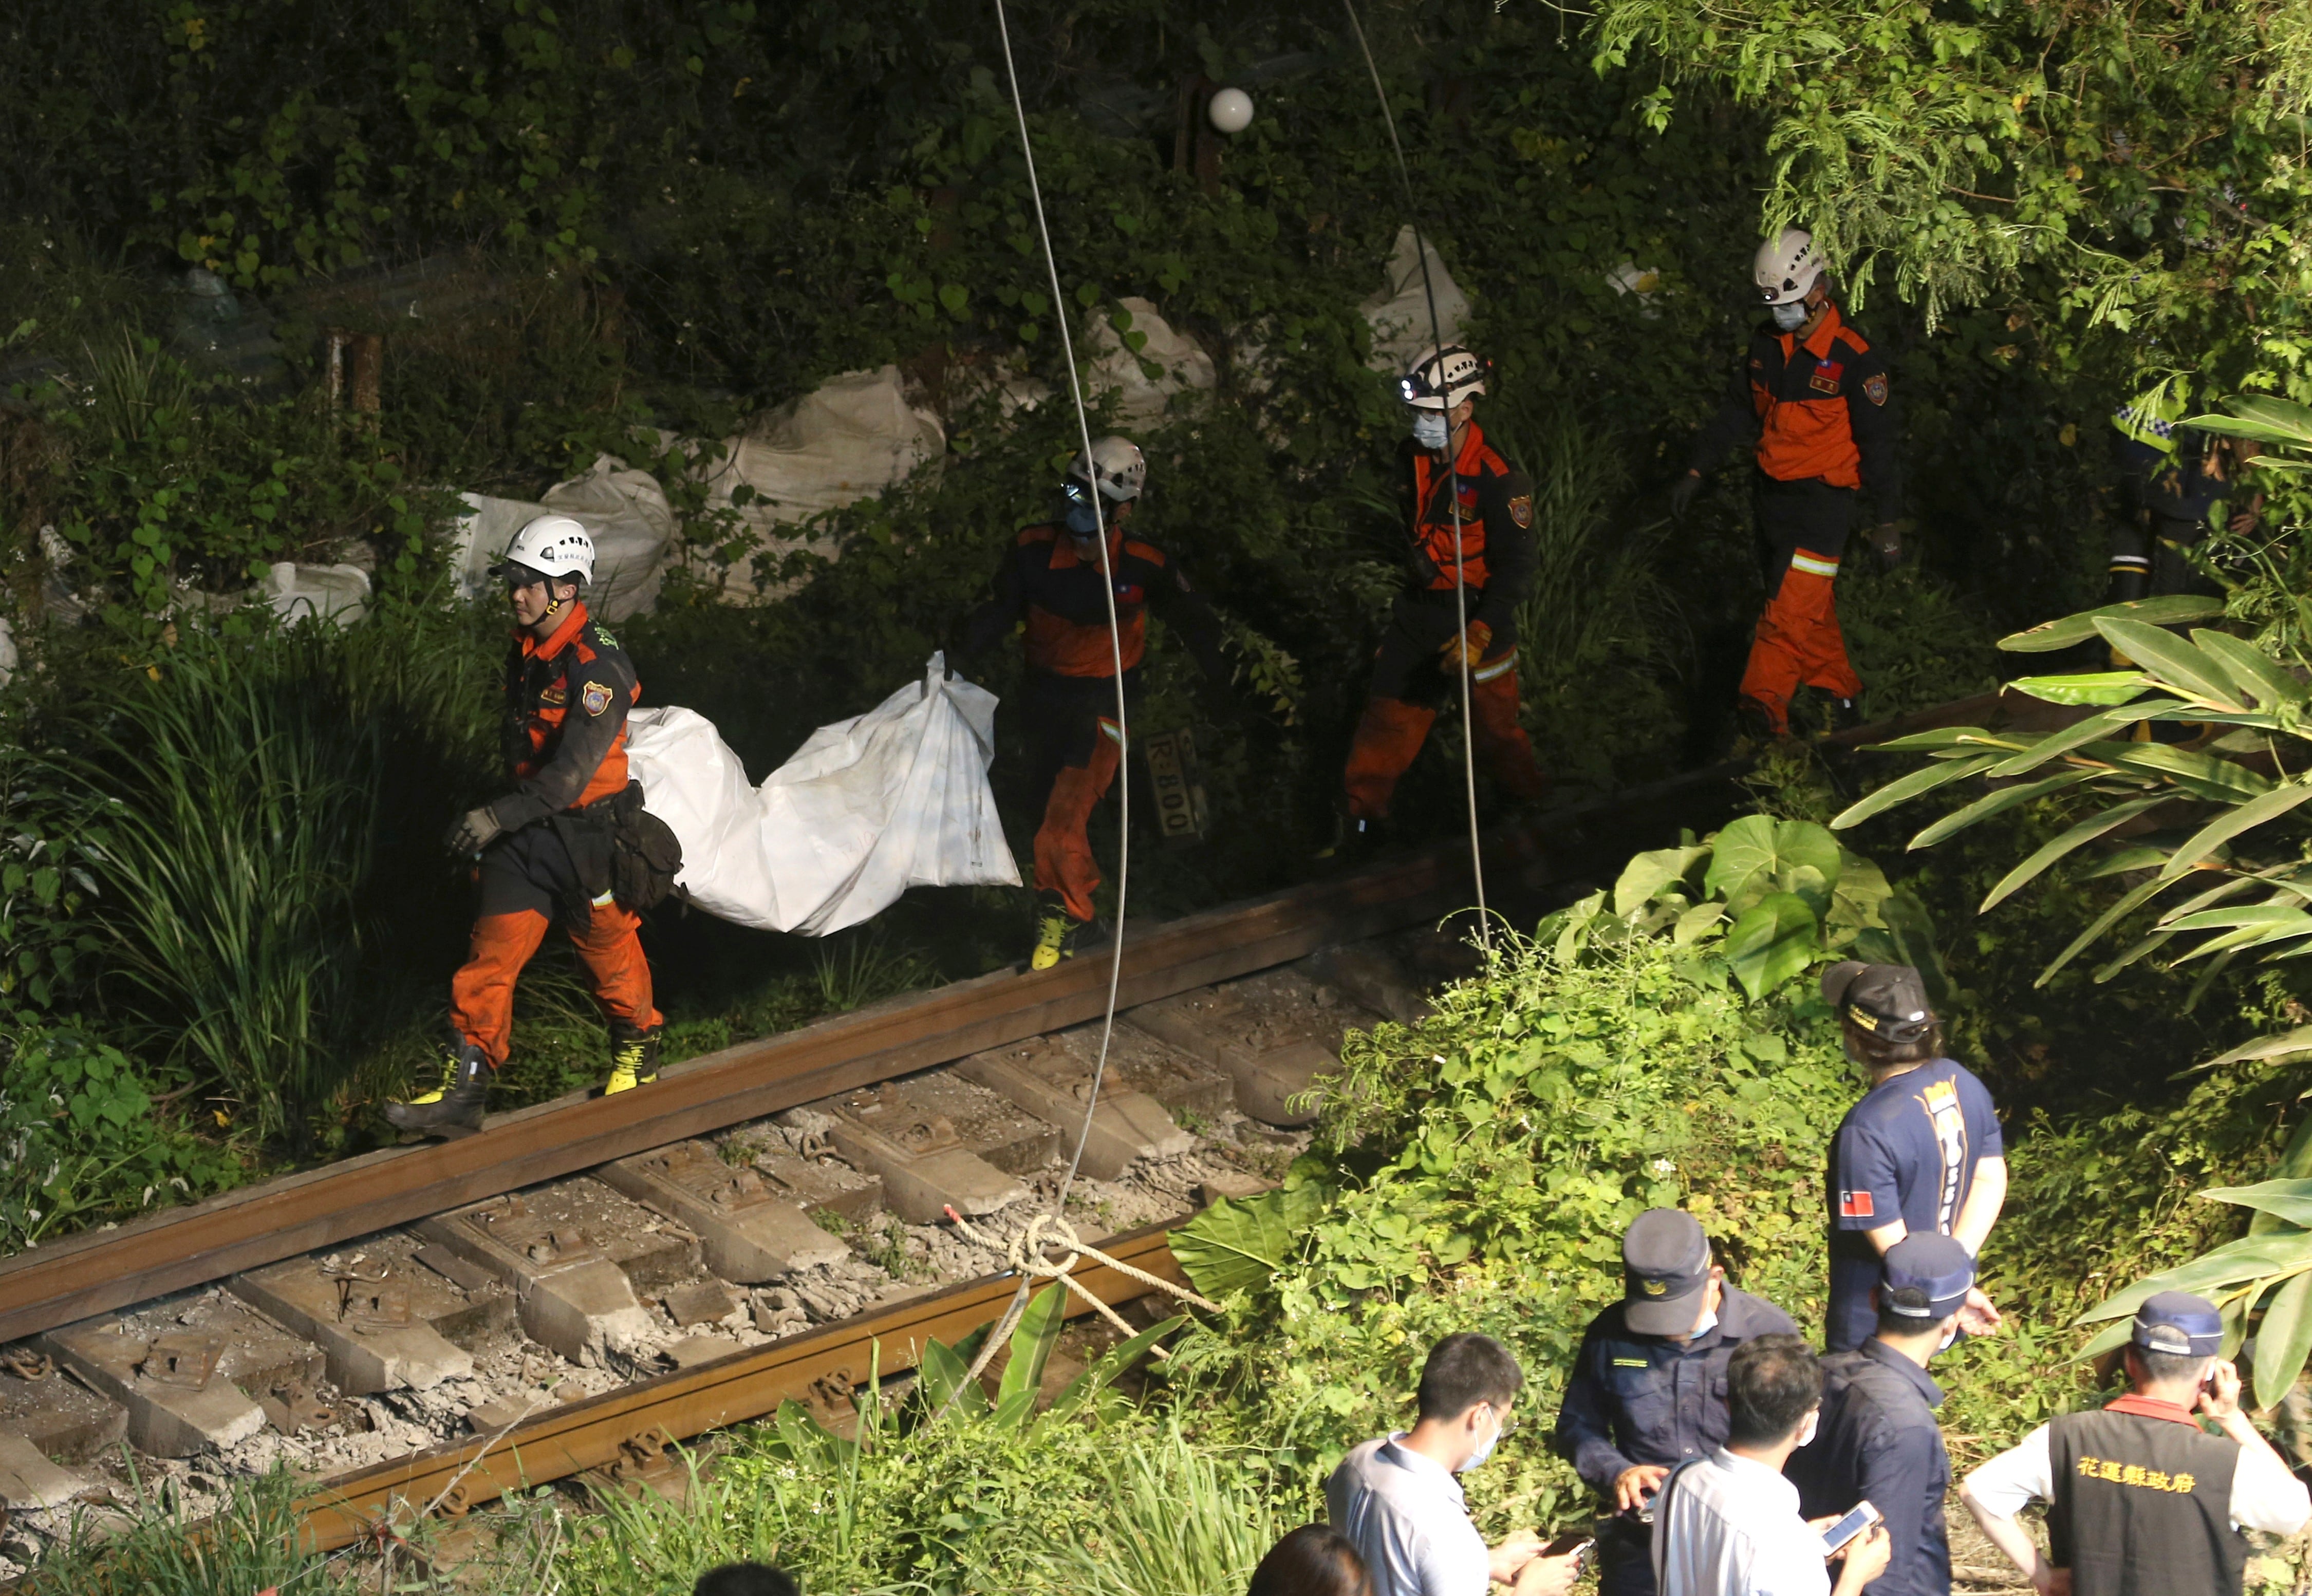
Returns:
[[[1440,710],[1459,708],[1461,671],[1470,678],[1475,754],[1494,782],[1517,800],[1549,793],[1533,740],[1517,724],[1517,604],[1535,564],[1533,479],[1484,442],[1475,421],[1484,377],[1484,361],[1447,345],[1399,379],[1413,416],[1399,481],[1413,588],[1396,594],[1373,652],[1364,715],[1341,775],[1339,826],[1320,858],[1373,842],[1429,726]]]

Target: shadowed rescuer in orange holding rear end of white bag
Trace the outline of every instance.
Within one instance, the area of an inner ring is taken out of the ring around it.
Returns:
[[[1036,791],[1045,791],[1036,830],[1036,948],[1031,969],[1073,958],[1094,923],[1101,865],[1091,854],[1091,810],[1107,796],[1124,761],[1117,726],[1117,648],[1107,631],[1107,583],[1101,576],[1101,523],[1107,525],[1107,571],[1114,576],[1124,657],[1126,719],[1140,699],[1147,618],[1154,608],[1177,629],[1211,687],[1228,685],[1221,618],[1154,544],[1124,527],[1147,488],[1147,460],[1128,437],[1103,437],[1068,465],[1059,520],[1022,527],[996,567],[994,597],[971,613],[957,655],[985,655],[1015,625],[1027,634],[1027,717]],[[1094,493],[1098,504],[1094,504]]]

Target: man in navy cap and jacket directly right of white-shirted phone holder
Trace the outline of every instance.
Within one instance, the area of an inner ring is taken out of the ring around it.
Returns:
[[[1942,1499],[1951,1455],[1935,1409],[1942,1388],[1926,1365],[1951,1344],[1974,1288],[1974,1258],[1949,1235],[1905,1235],[1880,1261],[1877,1335],[1822,1360],[1822,1432],[1783,1473],[1808,1517],[1857,1501],[1887,1522],[1891,1557],[1868,1596],[1949,1596],[1951,1543]]]

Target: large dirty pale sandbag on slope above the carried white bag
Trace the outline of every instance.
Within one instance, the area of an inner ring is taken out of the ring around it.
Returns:
[[[707,502],[728,507],[744,483],[756,497],[740,516],[770,532],[883,493],[946,451],[946,428],[909,405],[897,365],[844,372],[724,439],[724,458],[705,467]]]

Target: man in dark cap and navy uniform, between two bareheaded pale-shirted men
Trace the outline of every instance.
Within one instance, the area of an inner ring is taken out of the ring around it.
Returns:
[[[1734,1349],[1759,1335],[1796,1332],[1789,1314],[1736,1286],[1720,1286],[1718,1311],[1704,1323],[1711,1247],[1702,1221],[1683,1210],[1639,1214],[1623,1235],[1621,1258],[1623,1300],[1584,1332],[1556,1429],[1558,1455],[1609,1510],[1614,1483],[1632,1466],[1674,1469],[1725,1446]],[[1651,1543],[1639,1513],[1600,1520],[1605,1596],[1655,1594]]]

